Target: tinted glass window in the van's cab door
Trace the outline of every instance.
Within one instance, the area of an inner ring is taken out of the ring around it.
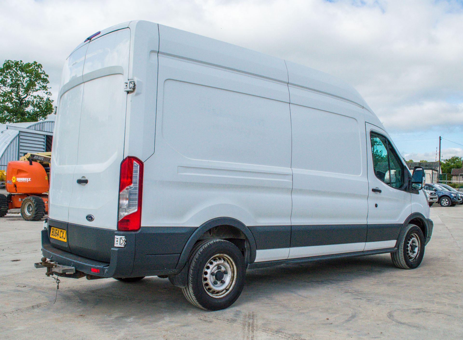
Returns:
[[[376,177],[387,185],[400,189],[404,183],[404,166],[399,155],[386,137],[371,132],[370,139]]]

